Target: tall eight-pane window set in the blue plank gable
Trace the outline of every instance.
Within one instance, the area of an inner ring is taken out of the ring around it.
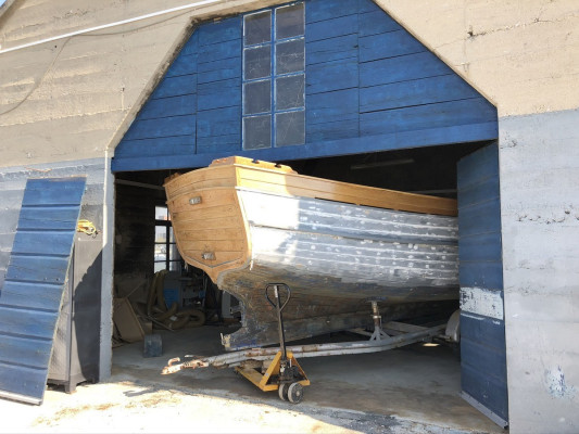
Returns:
[[[243,17],[243,149],[305,142],[305,10],[291,3]]]

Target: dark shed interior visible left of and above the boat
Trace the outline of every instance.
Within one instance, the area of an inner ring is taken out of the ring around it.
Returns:
[[[301,175],[456,199],[457,161],[484,144],[277,163]],[[186,331],[239,322],[237,301],[219,291],[203,271],[187,266],[173,238],[163,182],[174,173],[191,169],[116,174],[114,345],[141,341],[153,330]]]

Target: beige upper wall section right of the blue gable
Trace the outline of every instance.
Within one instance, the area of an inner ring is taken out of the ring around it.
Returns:
[[[376,0],[499,108],[579,105],[576,0]]]

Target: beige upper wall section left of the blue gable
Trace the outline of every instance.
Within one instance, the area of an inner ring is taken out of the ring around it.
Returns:
[[[14,1],[0,16],[0,167],[103,157],[128,128],[193,20],[264,2],[218,1],[17,51],[1,50],[199,1]]]

